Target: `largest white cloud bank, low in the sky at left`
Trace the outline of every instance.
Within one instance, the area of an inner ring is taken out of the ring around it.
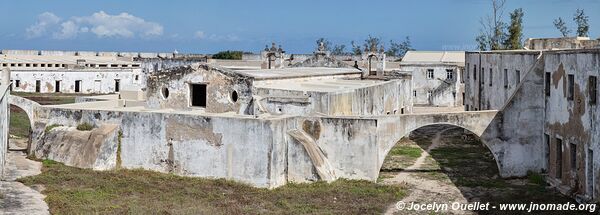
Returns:
[[[40,18],[36,24],[27,28],[28,35],[35,35],[35,37],[44,36],[44,33],[49,28],[54,27],[60,20],[54,14],[48,13],[57,19],[54,19],[55,21],[52,25],[47,24],[40,21],[44,14],[40,14]],[[51,31],[53,32],[52,37],[55,39],[70,39],[85,33],[92,33],[99,38],[133,38],[136,36],[160,36],[163,34],[163,26],[128,13],[110,15],[104,11],[100,11],[90,16],[72,17],[62,22],[57,28],[51,29]]]

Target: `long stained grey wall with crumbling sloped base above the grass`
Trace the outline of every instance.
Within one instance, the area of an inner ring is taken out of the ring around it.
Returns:
[[[287,145],[281,143],[288,138],[288,118],[61,108],[45,108],[43,115],[46,127],[36,129],[64,127],[54,128],[32,143],[36,156],[69,165],[86,166],[95,161],[95,167],[116,165],[182,176],[227,178],[257,187],[286,183]],[[105,141],[82,144],[84,141],[77,140],[85,139],[89,132],[75,132],[67,127],[84,122],[97,129],[107,125],[120,125],[120,129],[100,138]],[[120,135],[115,139],[114,133]],[[95,153],[81,153],[86,150]]]

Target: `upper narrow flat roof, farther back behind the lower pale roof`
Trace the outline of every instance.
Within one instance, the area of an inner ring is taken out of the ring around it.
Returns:
[[[283,69],[249,69],[235,70],[237,74],[253,77],[255,79],[285,79],[301,77],[317,77],[330,75],[361,74],[353,68],[327,68],[327,67],[297,67]]]

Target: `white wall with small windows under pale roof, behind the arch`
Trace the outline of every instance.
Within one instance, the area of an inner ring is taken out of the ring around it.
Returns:
[[[431,79],[427,77],[429,69],[433,69]],[[447,79],[447,70],[453,71],[452,79]],[[426,106],[462,106],[464,84],[459,75],[463,70],[463,67],[442,64],[400,65],[400,71],[412,71],[414,104]]]

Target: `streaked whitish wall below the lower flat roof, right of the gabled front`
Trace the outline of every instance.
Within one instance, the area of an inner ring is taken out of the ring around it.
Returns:
[[[390,115],[412,109],[411,82],[395,79],[346,92],[293,91],[256,88],[255,94],[270,113],[331,116]]]

